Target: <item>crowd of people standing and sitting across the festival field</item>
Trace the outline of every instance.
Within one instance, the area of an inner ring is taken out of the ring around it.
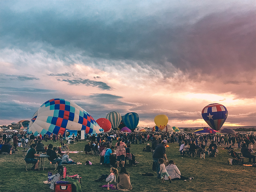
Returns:
[[[79,134],[72,135],[72,139],[75,141],[81,141]],[[60,142],[59,147],[53,147],[52,144],[46,147],[42,143],[42,140],[52,140],[53,143]],[[255,163],[255,156],[251,154],[249,149],[250,144],[255,143],[255,135],[241,135],[241,134],[194,134],[190,132],[178,132],[178,133],[166,133],[166,132],[132,132],[123,133],[119,131],[111,131],[109,133],[100,134],[88,134],[85,137],[87,144],[84,147],[86,154],[100,155],[100,165],[110,167],[110,174],[102,174],[96,181],[105,180],[106,182],[117,182],[116,188],[119,190],[131,190],[132,185],[130,182],[130,175],[125,169],[126,160],[130,165],[136,165],[138,162],[135,160],[134,154],[131,153],[131,144],[147,144],[143,149],[145,152],[152,152],[153,167],[155,167],[157,178],[164,180],[192,180],[193,177],[186,177],[181,175],[178,167],[173,160],[167,159],[166,145],[167,143],[177,143],[180,148],[180,155],[196,156],[200,152],[207,152],[209,157],[215,157],[218,153],[217,146],[233,147],[235,143],[238,148],[241,148],[241,152],[244,157],[249,158]],[[117,140],[115,145],[113,140]],[[13,143],[13,145],[11,144]],[[66,141],[65,141],[66,142]],[[68,141],[67,141],[68,142]],[[151,144],[151,146],[150,146]],[[0,132],[0,150],[1,153],[6,151],[7,153],[15,153],[18,146],[30,146],[27,155],[25,157],[26,163],[32,163],[34,166],[31,168],[34,171],[38,170],[39,152],[44,152],[50,157],[48,158],[52,163],[58,164],[58,170],[60,171],[61,164],[81,164],[75,162],[69,157],[68,145],[64,143],[63,136],[61,134],[41,135],[27,134],[26,132]],[[62,150],[66,150],[65,154],[62,154]],[[58,150],[59,149],[59,150]],[[196,152],[198,154],[196,154]],[[89,164],[89,163],[88,163]],[[127,164],[126,164],[127,165]],[[166,165],[166,166],[165,166]],[[116,166],[116,168],[114,168]],[[118,169],[121,168],[119,174]],[[116,179],[117,175],[117,179]]]

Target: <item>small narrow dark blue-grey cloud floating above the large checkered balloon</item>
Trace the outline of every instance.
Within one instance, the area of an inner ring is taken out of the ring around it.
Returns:
[[[93,81],[90,79],[58,79],[58,81],[65,81],[68,82],[68,84],[71,85],[79,85],[79,84],[84,84],[85,86],[92,86],[92,87],[98,87],[100,90],[111,90],[112,88],[108,86],[106,83],[102,81]]]

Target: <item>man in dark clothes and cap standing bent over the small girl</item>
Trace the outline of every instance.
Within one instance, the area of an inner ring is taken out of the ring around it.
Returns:
[[[166,156],[166,148],[165,146],[167,145],[167,140],[163,140],[162,143],[158,144],[155,148],[155,151],[153,153],[153,161],[156,164],[156,173],[157,173],[157,179],[161,178],[161,174],[160,172],[160,164],[158,162],[158,159],[163,158],[166,162],[168,162],[167,160],[167,156]]]

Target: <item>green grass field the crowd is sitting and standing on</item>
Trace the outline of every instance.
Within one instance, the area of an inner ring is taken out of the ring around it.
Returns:
[[[52,141],[43,141],[43,143],[46,146]],[[71,151],[83,151],[86,143],[86,141],[82,141],[77,144],[70,144],[69,147]],[[178,152],[178,144],[169,145],[170,147],[166,150],[168,160],[172,159],[175,162],[183,176],[194,177],[195,179],[162,184],[160,180],[156,179],[156,172],[152,171],[152,153],[142,152],[143,147],[145,147],[143,144],[132,144],[131,153],[140,162],[137,166],[127,167],[131,177],[132,191],[256,191],[256,168],[229,165],[228,158],[230,156],[227,150],[221,149],[223,147],[218,147],[219,155],[217,157],[209,158],[206,156],[205,159],[200,159],[199,157],[182,158]],[[53,146],[56,146],[56,143]],[[21,150],[21,148],[18,149]],[[109,174],[109,168],[100,165],[99,156],[85,155],[84,152],[70,153],[69,156],[74,161],[82,163],[82,165],[67,165],[66,167],[67,172],[71,175],[78,173],[82,177],[83,192],[107,191],[107,188],[99,187],[100,184],[106,184],[105,182],[94,181],[101,174]],[[84,165],[86,160],[91,161],[92,165]],[[248,164],[248,158],[245,158],[245,163]],[[25,164],[21,151],[17,151],[17,154],[13,155],[0,155],[0,192],[52,192],[47,184],[43,184],[43,181],[47,180],[47,172],[52,170],[48,159],[45,159],[45,167],[48,168],[44,171],[40,169],[39,172],[30,170],[27,172]],[[29,166],[31,168],[31,164]],[[154,177],[142,176],[141,174],[145,172],[154,173]]]

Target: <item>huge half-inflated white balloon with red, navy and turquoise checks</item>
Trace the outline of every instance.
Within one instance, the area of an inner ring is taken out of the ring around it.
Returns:
[[[74,102],[51,99],[33,115],[28,130],[35,135],[64,134],[65,130],[85,130],[85,133],[100,133],[100,126],[92,116]]]

